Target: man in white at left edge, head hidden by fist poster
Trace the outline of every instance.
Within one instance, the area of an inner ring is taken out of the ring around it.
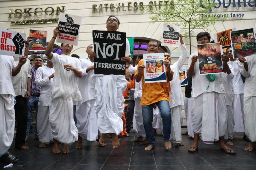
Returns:
[[[19,159],[8,152],[14,136],[15,92],[12,86],[12,76],[16,76],[25,64],[27,58],[20,57],[18,65],[14,63],[13,56],[0,55],[0,162],[15,163]]]

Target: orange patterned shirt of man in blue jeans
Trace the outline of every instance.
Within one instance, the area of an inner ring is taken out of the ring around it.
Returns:
[[[165,60],[169,60],[167,57],[164,57]],[[138,63],[138,67],[143,65],[143,59]],[[166,68],[167,70],[167,68]],[[135,76],[139,73],[137,69]],[[170,82],[168,81],[166,74],[166,82],[157,82],[157,83],[145,83],[144,70],[142,71],[142,97],[140,106],[150,105],[161,100],[167,100],[170,102],[169,93],[171,92]]]

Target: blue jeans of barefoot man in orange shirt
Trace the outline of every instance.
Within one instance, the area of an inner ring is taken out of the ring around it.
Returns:
[[[158,106],[161,112],[161,117],[163,118],[164,142],[167,142],[170,140],[171,122],[172,122],[170,105],[167,100],[161,100],[150,105],[142,106],[143,125],[144,125],[147,139],[149,141],[148,144],[152,146],[155,146],[155,135],[152,129],[153,107],[155,106],[155,104]]]

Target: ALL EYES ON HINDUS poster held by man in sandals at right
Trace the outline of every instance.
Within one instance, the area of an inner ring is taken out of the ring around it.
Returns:
[[[198,44],[197,51],[200,74],[223,72],[220,43]]]

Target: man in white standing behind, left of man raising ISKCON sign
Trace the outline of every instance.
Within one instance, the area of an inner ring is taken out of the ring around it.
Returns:
[[[52,62],[47,58],[46,66],[39,67],[36,70],[36,85],[41,88],[38,102],[37,113],[37,133],[39,139],[39,147],[44,148],[45,144],[52,143],[52,129],[49,123],[49,115],[51,109],[51,94],[54,78],[54,68]]]

